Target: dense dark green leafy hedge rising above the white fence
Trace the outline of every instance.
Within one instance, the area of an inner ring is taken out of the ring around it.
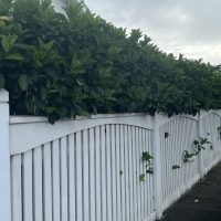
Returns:
[[[168,115],[221,108],[219,66],[162,53],[84,10],[50,0],[0,0],[0,88],[11,114],[50,122],[96,113]]]

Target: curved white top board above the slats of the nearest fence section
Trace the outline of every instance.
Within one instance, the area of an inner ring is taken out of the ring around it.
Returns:
[[[54,125],[46,122],[31,123],[25,118],[22,120],[13,120],[11,118],[10,125],[10,152],[11,155],[28,151],[34,147],[41,146],[57,138],[71,135],[73,133],[105,125],[105,124],[129,124],[140,127],[147,127],[146,122],[149,120],[148,127],[151,128],[151,118],[148,115],[119,116],[119,117],[104,117],[104,118],[88,118],[81,120],[62,120]],[[22,123],[20,123],[22,122]],[[20,139],[25,134],[25,139]],[[33,136],[34,134],[34,136]]]

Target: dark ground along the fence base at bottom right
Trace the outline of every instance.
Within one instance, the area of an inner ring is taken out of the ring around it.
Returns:
[[[221,164],[165,211],[161,221],[221,221]]]

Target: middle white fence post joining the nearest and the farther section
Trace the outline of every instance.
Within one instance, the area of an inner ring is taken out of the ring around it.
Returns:
[[[160,134],[159,134],[159,115],[154,117],[152,135],[152,157],[154,157],[154,196],[157,219],[162,217],[162,188],[161,188],[161,157],[160,157]]]

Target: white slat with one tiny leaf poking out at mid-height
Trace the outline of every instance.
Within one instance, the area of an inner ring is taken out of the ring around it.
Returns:
[[[125,219],[125,167],[124,167],[124,126],[120,125],[120,146],[119,146],[119,150],[120,150],[120,198],[122,198],[122,221],[126,221]]]

